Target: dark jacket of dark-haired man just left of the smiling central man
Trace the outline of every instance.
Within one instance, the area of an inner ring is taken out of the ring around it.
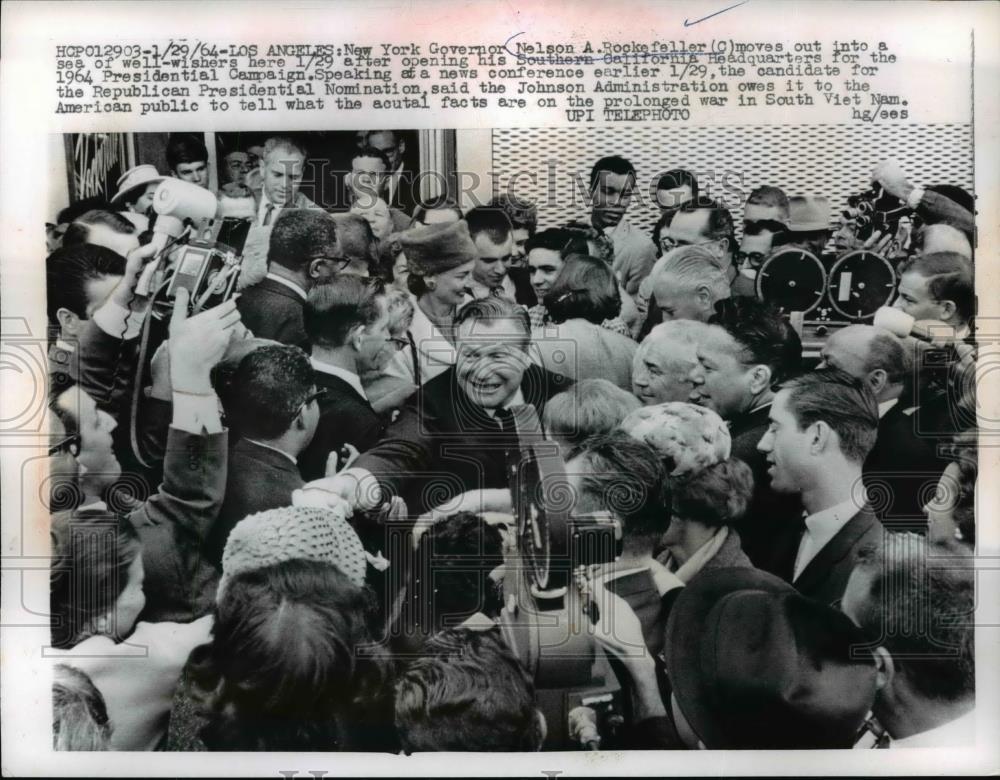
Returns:
[[[316,371],[316,387],[326,390],[319,401],[319,425],[309,446],[299,456],[299,470],[307,480],[326,473],[326,459],[344,444],[358,452],[374,447],[385,433],[385,421],[366,398],[333,374]]]

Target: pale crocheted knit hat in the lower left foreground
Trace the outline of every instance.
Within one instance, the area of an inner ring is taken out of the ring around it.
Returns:
[[[359,588],[365,584],[365,551],[343,509],[286,506],[249,515],[233,528],[218,597],[231,577],[290,560],[332,563]]]

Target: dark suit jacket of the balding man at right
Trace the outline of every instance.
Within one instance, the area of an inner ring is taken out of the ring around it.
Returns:
[[[918,436],[916,425],[915,413],[904,414],[902,402],[886,412],[862,476],[883,525],[926,533],[923,505],[934,494],[948,459],[937,457],[939,439]]]

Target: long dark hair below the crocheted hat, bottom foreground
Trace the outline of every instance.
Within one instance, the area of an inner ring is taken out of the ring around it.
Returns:
[[[387,739],[389,667],[371,643],[370,609],[368,592],[329,563],[233,577],[212,641],[188,661],[206,747],[356,750]]]

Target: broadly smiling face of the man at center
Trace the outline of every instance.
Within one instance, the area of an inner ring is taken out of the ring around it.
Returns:
[[[521,386],[530,335],[514,319],[468,320],[456,335],[455,373],[466,397],[485,409],[502,407]]]

